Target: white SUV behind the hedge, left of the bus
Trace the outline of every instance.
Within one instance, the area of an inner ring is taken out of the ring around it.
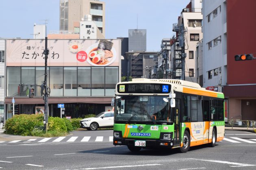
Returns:
[[[89,117],[80,121],[80,126],[87,130],[97,130],[99,127],[113,127],[114,112],[102,112],[95,117]]]

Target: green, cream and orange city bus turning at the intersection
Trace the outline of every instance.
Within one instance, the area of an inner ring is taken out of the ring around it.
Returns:
[[[224,138],[224,95],[176,79],[119,82],[112,99],[113,144],[137,152],[215,143]]]

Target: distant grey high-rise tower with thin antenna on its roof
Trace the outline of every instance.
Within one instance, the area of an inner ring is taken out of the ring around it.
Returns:
[[[128,30],[128,51],[147,51],[147,30],[129,29]]]

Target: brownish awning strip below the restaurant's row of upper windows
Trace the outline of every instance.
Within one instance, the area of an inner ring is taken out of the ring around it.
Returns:
[[[6,104],[12,104],[13,98],[5,98]],[[43,98],[14,98],[15,104],[44,104]],[[98,103],[110,104],[111,97],[109,98],[48,98],[49,104],[56,103]]]

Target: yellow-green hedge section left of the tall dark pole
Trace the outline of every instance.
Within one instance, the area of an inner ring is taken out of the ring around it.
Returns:
[[[5,133],[31,136],[35,126],[43,126],[43,114],[32,115],[14,115],[5,123]]]

